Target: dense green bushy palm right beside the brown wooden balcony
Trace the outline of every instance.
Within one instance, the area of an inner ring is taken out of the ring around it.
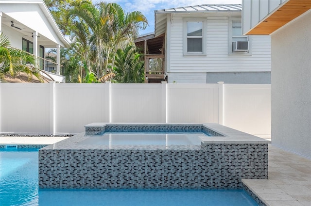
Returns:
[[[135,46],[127,46],[116,52],[115,68],[116,81],[120,83],[143,83],[144,61]]]

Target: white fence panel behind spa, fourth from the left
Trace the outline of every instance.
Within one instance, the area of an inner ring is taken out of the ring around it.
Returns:
[[[168,84],[167,122],[218,123],[218,84]]]

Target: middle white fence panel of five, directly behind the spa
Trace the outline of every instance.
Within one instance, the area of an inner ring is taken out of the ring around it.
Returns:
[[[111,84],[110,122],[165,123],[166,84]]]

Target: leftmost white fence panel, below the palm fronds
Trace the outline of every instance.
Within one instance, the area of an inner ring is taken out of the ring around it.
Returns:
[[[1,133],[50,133],[50,84],[0,83]]]

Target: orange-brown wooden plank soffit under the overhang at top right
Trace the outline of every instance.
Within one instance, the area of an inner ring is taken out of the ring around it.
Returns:
[[[246,33],[246,35],[266,35],[275,32],[297,16],[311,9],[311,0],[289,0],[270,16],[264,18],[257,26]]]

